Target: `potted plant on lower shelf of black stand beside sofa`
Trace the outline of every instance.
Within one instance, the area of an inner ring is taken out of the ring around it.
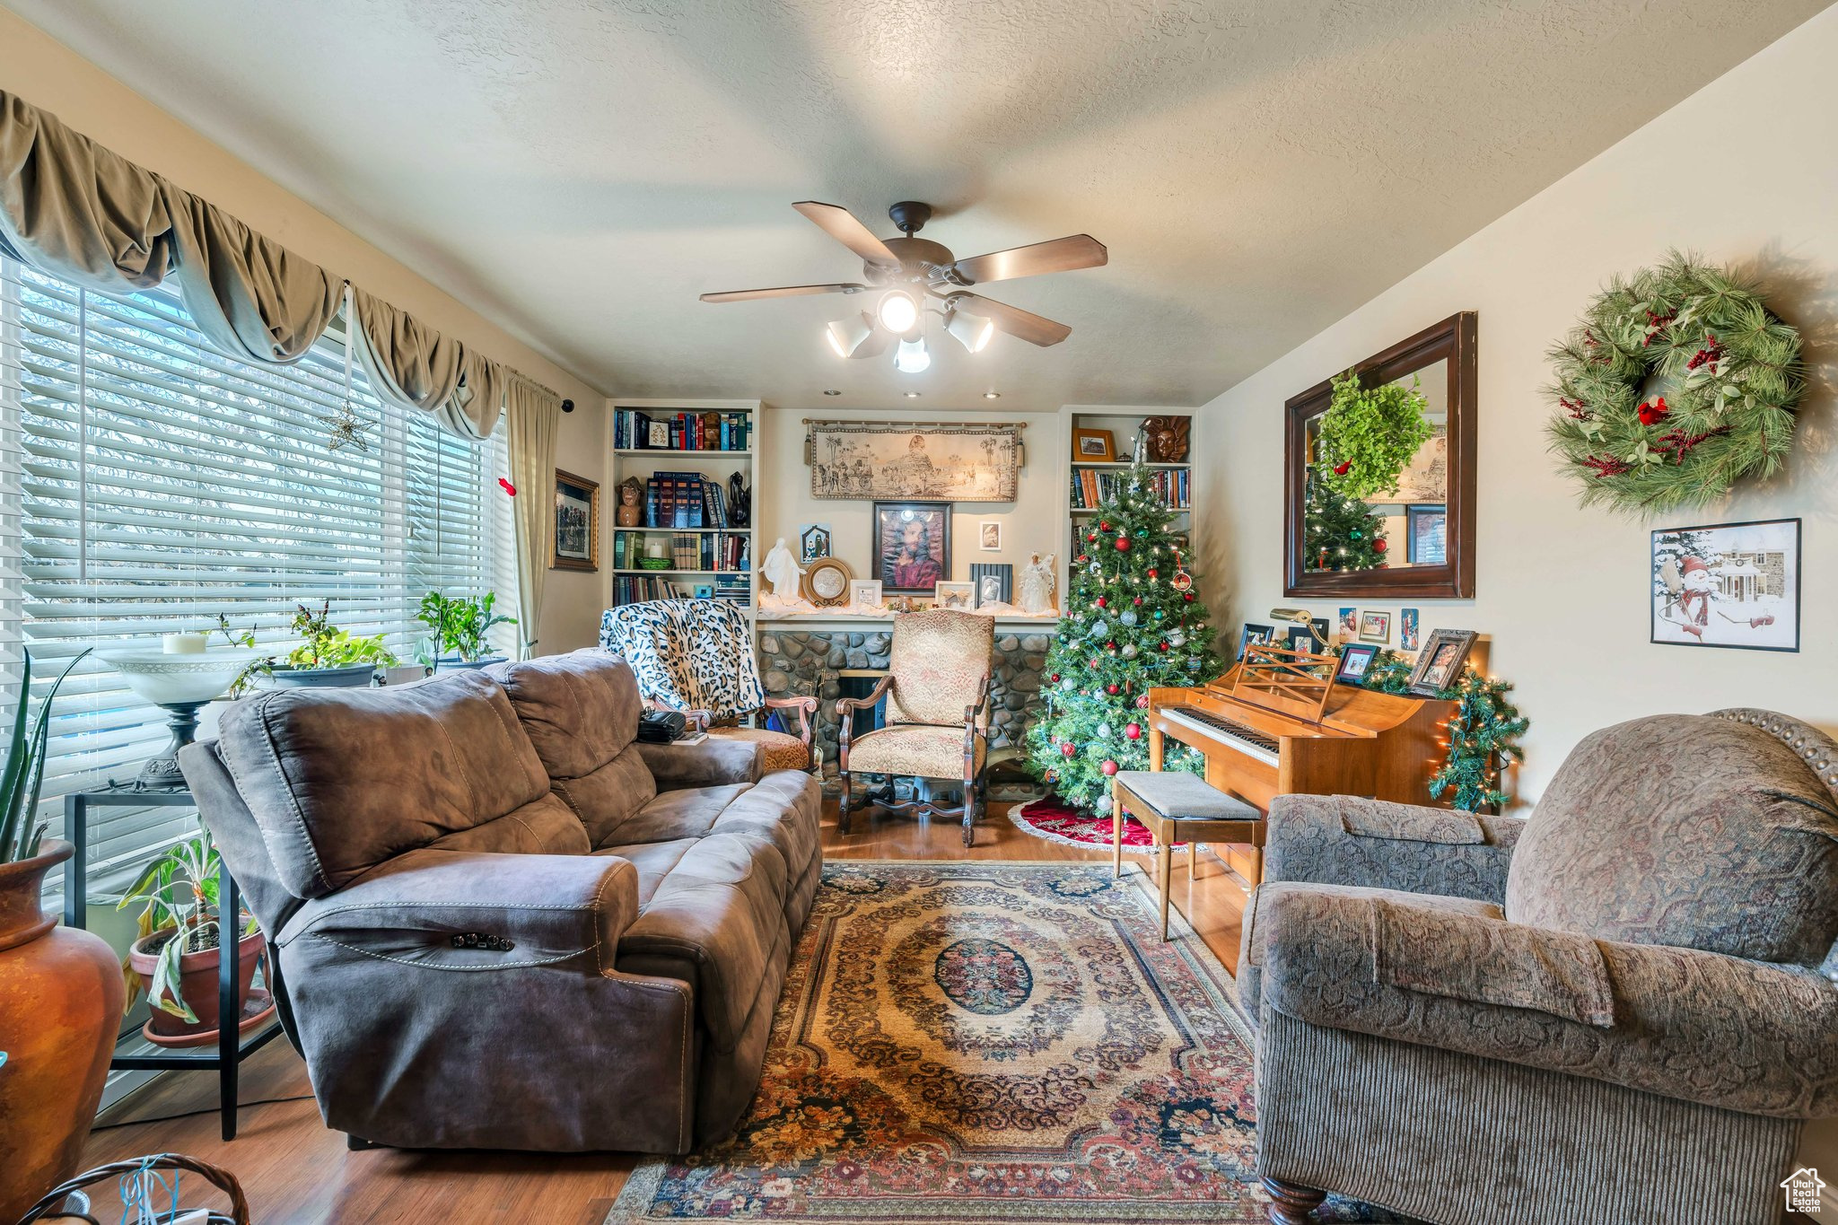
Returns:
[[[119,909],[140,902],[140,938],[129,951],[129,984],[147,990],[153,1019],[149,1041],[165,1047],[215,1041],[217,962],[222,915],[217,907],[219,854],[211,834],[200,832],[169,847],[121,894]],[[267,942],[254,918],[237,916],[237,1025],[252,1025],[274,1006],[257,999],[250,1016],[250,983]]]

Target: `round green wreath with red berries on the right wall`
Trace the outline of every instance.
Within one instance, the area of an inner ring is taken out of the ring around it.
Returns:
[[[1583,505],[1698,507],[1792,446],[1799,332],[1724,268],[1673,252],[1616,277],[1549,356],[1546,433]]]

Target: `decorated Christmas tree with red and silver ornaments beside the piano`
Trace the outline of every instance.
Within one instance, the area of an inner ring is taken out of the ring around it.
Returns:
[[[1147,468],[1130,468],[1118,490],[1081,520],[1046,657],[1048,709],[1027,729],[1035,775],[1097,812],[1110,812],[1110,775],[1149,770],[1149,687],[1197,685],[1217,672],[1187,545],[1169,529],[1174,512],[1151,490]],[[1169,742],[1163,766],[1200,760]]]

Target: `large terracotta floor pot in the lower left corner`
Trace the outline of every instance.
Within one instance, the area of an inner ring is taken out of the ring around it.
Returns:
[[[108,1078],[127,990],[114,950],[39,904],[70,843],[0,863],[0,1221],[72,1174]]]

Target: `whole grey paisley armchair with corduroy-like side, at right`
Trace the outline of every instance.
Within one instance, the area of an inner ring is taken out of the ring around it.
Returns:
[[[1768,711],[1575,747],[1526,821],[1270,806],[1244,916],[1270,1219],[1774,1225],[1838,1115],[1838,744]]]

